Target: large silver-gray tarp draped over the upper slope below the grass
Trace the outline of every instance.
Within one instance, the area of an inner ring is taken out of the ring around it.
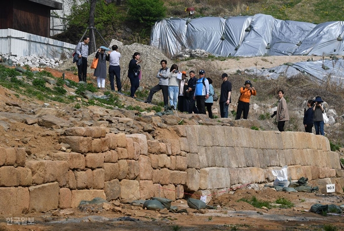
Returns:
[[[250,27],[250,31],[245,31]],[[344,54],[344,22],[319,25],[282,21],[272,16],[204,17],[163,19],[152,28],[150,44],[170,55],[204,49],[221,56]],[[266,49],[270,44],[270,49]],[[238,47],[235,50],[235,47]]]

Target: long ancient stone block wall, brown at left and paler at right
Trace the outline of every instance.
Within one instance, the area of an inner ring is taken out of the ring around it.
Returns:
[[[59,141],[72,150],[52,154],[54,160],[26,160],[24,148],[0,147],[0,212],[77,207],[94,197],[175,200],[184,191],[272,182],[271,170],[284,165],[292,180],[307,177],[321,190],[336,184],[338,192],[344,186],[338,153],[324,136],[224,126],[170,131],[179,138],[69,128]]]

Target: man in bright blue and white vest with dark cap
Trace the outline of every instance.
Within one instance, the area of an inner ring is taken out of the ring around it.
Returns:
[[[209,98],[209,81],[204,77],[205,71],[199,71],[199,78],[196,82],[194,99],[197,103],[199,114],[206,114],[205,112],[205,99]]]

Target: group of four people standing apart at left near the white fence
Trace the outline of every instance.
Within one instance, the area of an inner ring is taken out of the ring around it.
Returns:
[[[78,55],[79,59],[82,60],[82,62],[77,65],[78,69],[78,77],[79,81],[86,82],[87,77],[87,58],[89,55],[89,44],[90,38],[84,37],[82,42],[79,42],[75,48],[75,55]],[[116,78],[116,86],[117,91],[121,92],[122,90],[122,84],[120,81],[120,66],[119,66],[119,60],[120,60],[120,53],[117,51],[118,46],[113,45],[112,51],[108,51],[108,53],[105,53],[104,48],[99,48],[97,50],[95,58],[98,59],[97,67],[95,68],[94,76],[97,77],[97,84],[99,89],[105,89],[105,80],[107,75],[107,68],[106,68],[106,62],[109,62],[109,79],[110,79],[110,87],[112,91],[115,91],[115,84],[114,80]],[[130,61],[128,66],[128,78],[130,79],[131,83],[131,94],[130,96],[132,98],[135,98],[135,92],[140,86],[140,63],[142,61],[140,60],[140,53],[135,52],[133,55],[133,59]]]

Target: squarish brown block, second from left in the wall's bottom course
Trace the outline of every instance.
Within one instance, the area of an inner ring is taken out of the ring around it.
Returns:
[[[45,212],[57,209],[59,206],[59,183],[47,183],[44,185],[29,187],[29,210]]]

